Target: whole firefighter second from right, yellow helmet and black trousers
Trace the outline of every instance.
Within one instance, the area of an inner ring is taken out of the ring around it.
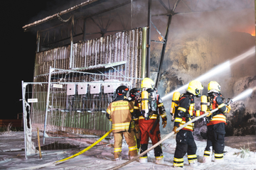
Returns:
[[[188,154],[188,163],[190,166],[197,166],[196,143],[193,139],[193,123],[177,131],[176,129],[184,125],[193,117],[203,115],[203,111],[195,111],[194,98],[201,96],[203,86],[201,82],[193,80],[188,84],[188,89],[181,94],[178,102],[178,109],[174,119],[174,133],[176,134],[176,149],[174,153],[174,167],[183,167],[183,157]]]

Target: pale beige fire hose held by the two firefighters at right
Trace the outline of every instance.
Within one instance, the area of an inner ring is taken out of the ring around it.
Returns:
[[[215,108],[213,109],[212,111],[210,111],[210,113],[213,113],[215,111],[218,111],[218,108]],[[193,123],[194,121],[200,119],[200,118],[203,118],[205,117],[206,115],[208,115],[209,113],[204,113],[203,115],[200,115],[196,118],[193,118],[192,120],[188,121],[187,123],[185,123],[184,125],[181,125],[180,127],[177,128],[177,131],[178,130],[181,130],[182,128],[186,127],[186,125],[188,124],[191,124]],[[122,166],[125,166],[131,162],[134,162],[136,159],[139,159],[139,157],[142,157],[144,154],[146,154],[147,152],[151,151],[151,149],[154,149],[155,147],[157,147],[158,145],[160,145],[162,142],[164,142],[165,140],[167,140],[169,137],[171,137],[172,135],[174,135],[174,131],[170,132],[168,135],[166,135],[166,137],[164,137],[162,140],[160,140],[159,142],[157,142],[155,145],[149,147],[149,149],[146,149],[144,152],[142,152],[141,154],[139,154],[137,157],[134,157],[133,159],[127,161],[127,162],[124,162],[124,164],[120,164],[119,166],[116,166],[112,169],[119,169],[121,168]]]

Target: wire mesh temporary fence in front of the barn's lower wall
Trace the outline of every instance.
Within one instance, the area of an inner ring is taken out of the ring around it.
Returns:
[[[119,76],[104,81],[86,81],[87,77],[97,76],[105,75],[50,68],[48,82],[26,83],[24,100],[31,106],[33,128],[53,134],[60,130],[103,135],[110,130],[112,125],[105,115],[107,106],[116,97],[118,86],[131,89],[132,84],[119,81]]]

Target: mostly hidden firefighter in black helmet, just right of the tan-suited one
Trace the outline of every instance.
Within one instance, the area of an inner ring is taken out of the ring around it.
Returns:
[[[142,89],[139,88],[133,88],[129,91],[129,101],[132,101],[132,103],[134,104],[135,101],[139,101],[140,100],[140,96],[142,94]],[[134,118],[134,121],[137,121],[138,118]],[[137,128],[134,128],[134,132],[135,132],[135,136],[136,136],[136,140],[137,140],[137,151],[139,153],[139,148],[140,148],[140,130],[137,126]]]

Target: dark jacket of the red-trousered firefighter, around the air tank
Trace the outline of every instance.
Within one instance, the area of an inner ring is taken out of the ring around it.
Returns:
[[[141,114],[142,111],[142,102],[141,101],[135,101],[134,103],[134,122],[135,124],[138,123],[155,123],[156,120],[159,120],[159,116],[161,116],[163,121],[167,120],[166,117],[166,110],[164,108],[164,103],[161,100],[160,95],[156,92],[156,111],[151,115],[149,120],[145,120],[144,117]]]

